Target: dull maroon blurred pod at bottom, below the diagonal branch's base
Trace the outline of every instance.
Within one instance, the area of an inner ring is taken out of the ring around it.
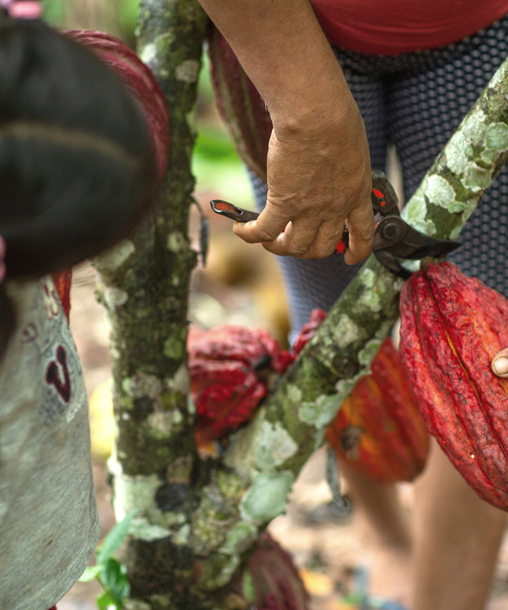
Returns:
[[[249,556],[242,589],[259,610],[307,610],[309,596],[291,557],[266,532]]]

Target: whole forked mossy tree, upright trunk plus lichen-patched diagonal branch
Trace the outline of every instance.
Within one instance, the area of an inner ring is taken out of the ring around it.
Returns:
[[[141,0],[141,58],[166,94],[170,171],[152,218],[96,260],[112,325],[117,519],[137,509],[125,551],[130,610],[246,610],[243,560],[285,508],[295,476],[398,317],[403,282],[373,257],[223,459],[201,462],[185,361],[193,136],[187,117],[207,18],[196,0]],[[455,239],[508,158],[508,63],[410,199],[420,231]]]

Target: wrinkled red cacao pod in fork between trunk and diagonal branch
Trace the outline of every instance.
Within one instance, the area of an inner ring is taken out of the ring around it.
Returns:
[[[264,329],[216,326],[188,335],[191,395],[198,422],[196,444],[202,447],[249,420],[267,387],[259,368],[283,373],[293,356],[282,350]]]

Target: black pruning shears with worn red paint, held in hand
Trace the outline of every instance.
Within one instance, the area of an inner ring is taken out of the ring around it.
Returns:
[[[407,279],[411,272],[402,267],[397,258],[420,260],[426,256],[439,258],[446,256],[460,246],[458,242],[435,239],[420,233],[402,220],[398,198],[392,185],[382,171],[372,172],[372,207],[374,209],[374,242],[372,251],[377,260],[399,278]],[[256,220],[259,213],[243,210],[222,199],[210,201],[212,210],[240,223]],[[349,231],[344,228],[336,252],[343,254],[349,245]]]

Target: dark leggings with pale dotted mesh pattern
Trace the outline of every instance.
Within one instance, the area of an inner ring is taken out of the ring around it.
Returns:
[[[365,121],[373,169],[384,170],[387,140],[404,172],[407,199],[508,55],[508,16],[459,43],[400,56],[334,49]],[[258,209],[267,187],[251,175]],[[508,298],[508,168],[482,199],[448,257]],[[356,273],[343,256],[324,260],[280,257],[295,337],[314,307],[330,309]]]

